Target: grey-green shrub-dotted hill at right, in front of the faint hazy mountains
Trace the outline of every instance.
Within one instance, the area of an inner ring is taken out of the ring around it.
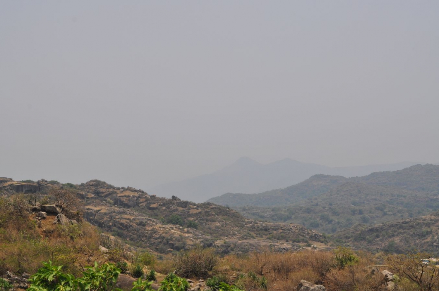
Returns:
[[[315,175],[284,189],[229,193],[209,201],[233,206],[249,218],[335,233],[355,224],[379,224],[439,209],[439,166],[415,165],[353,178]]]

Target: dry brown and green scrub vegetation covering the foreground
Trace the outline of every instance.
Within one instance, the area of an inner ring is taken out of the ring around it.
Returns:
[[[58,290],[35,287],[50,283],[48,275],[42,275],[44,272],[50,273],[50,270],[55,273],[54,277],[60,278],[57,279],[60,282],[61,278],[72,280],[70,290],[113,290],[113,279],[119,273],[129,271],[140,278],[136,285],[138,289],[133,290],[147,290],[145,288],[150,287],[142,279],[157,280],[160,274],[172,272],[180,277],[162,277],[165,279],[162,282],[167,280],[168,285],[182,286],[182,291],[189,285],[181,277],[203,278],[206,286],[213,290],[287,291],[295,288],[301,280],[323,284],[327,290],[334,291],[384,290],[384,276],[372,272],[376,265],[384,265],[380,268],[399,276],[396,282],[402,288],[400,290],[439,288],[436,268],[421,263],[421,259],[429,258],[427,254],[384,255],[338,248],[301,252],[266,250],[221,256],[214,249],[199,246],[161,259],[146,251],[136,252],[126,258],[121,245],[111,243],[106,236],[99,235],[95,227],[85,222],[71,227],[54,225],[51,229],[46,225],[41,231],[35,220],[31,219],[28,201],[22,195],[0,199],[0,228],[0,275],[6,271],[36,274],[31,277],[34,286],[31,290]],[[112,249],[104,255],[99,252],[99,245]],[[50,263],[43,265],[42,262]],[[109,262],[115,265],[108,265]],[[90,265],[94,267],[86,267]],[[37,273],[39,268],[43,269]],[[92,278],[90,280],[95,281],[95,286],[101,286],[100,280],[107,280],[105,284],[108,289],[93,289],[90,286],[84,289],[80,286],[85,284],[80,279],[84,276]],[[166,288],[173,287],[162,287],[162,290],[168,290]]]

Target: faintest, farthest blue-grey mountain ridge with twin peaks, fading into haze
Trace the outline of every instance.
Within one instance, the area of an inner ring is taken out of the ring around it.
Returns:
[[[162,184],[152,188],[151,193],[162,197],[175,195],[181,199],[203,202],[228,192],[251,194],[285,188],[315,174],[355,177],[379,171],[400,170],[415,164],[417,163],[402,162],[356,167],[327,167],[288,158],[262,164],[248,157],[242,157],[232,165],[212,174]]]

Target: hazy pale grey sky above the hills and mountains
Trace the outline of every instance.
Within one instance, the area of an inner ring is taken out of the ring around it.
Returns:
[[[1,1],[0,176],[439,162],[439,1]]]

